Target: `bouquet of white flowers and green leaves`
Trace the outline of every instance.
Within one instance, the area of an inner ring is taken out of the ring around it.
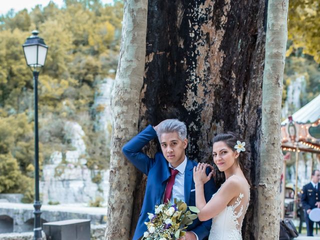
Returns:
[[[199,210],[195,206],[187,206],[181,200],[174,199],[174,202],[155,205],[155,214],[148,213],[150,221],[144,222],[147,231],[144,232],[142,240],[175,240],[184,236],[184,229],[197,218],[195,213]]]

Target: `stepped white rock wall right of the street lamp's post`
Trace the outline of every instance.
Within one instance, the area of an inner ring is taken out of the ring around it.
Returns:
[[[49,164],[43,165],[40,181],[43,204],[89,203],[98,198],[105,201],[109,171],[90,170],[86,166],[86,159],[83,158],[86,152],[82,139],[84,132],[77,122],[67,121],[64,132],[74,150],[68,150],[64,155],[60,151],[54,151]],[[63,158],[65,159],[62,160]],[[92,181],[97,174],[102,178],[100,183]]]

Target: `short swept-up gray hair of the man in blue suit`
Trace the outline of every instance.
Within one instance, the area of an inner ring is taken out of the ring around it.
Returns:
[[[178,119],[166,119],[161,122],[157,127],[156,134],[160,141],[162,133],[176,132],[179,138],[183,141],[186,138],[186,126],[185,123]]]

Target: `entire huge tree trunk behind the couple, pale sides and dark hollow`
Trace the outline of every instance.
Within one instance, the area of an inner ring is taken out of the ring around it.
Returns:
[[[133,4],[133,1],[125,2],[124,18],[130,19],[130,15],[133,25],[141,27],[143,21],[133,19],[137,15],[133,14],[133,8],[128,8],[128,4]],[[269,5],[273,7],[273,1]],[[282,12],[268,10],[269,18],[272,16],[275,19],[275,16],[281,15],[286,19],[285,0],[281,7]],[[218,132],[235,131],[246,141],[244,165],[251,181],[251,201],[242,227],[243,239],[275,239],[273,236],[278,231],[276,214],[279,211],[269,202],[279,205],[271,198],[278,197],[279,175],[275,175],[273,170],[278,172],[280,169],[279,163],[276,163],[280,141],[279,129],[275,129],[274,125],[279,124],[278,101],[283,73],[281,64],[284,61],[281,57],[284,56],[285,47],[275,52],[267,48],[265,55],[266,0],[149,0],[147,8],[145,55],[125,58],[129,51],[124,49],[124,45],[129,47],[133,38],[137,40],[133,41],[134,44],[142,44],[143,34],[139,32],[135,37],[130,37],[125,30],[122,32],[121,55],[112,100],[114,132],[106,239],[127,239],[125,232],[130,225],[132,190],[135,186],[130,229],[132,237],[144,194],[146,177],[138,173],[135,178],[135,171],[123,159],[120,147],[136,133],[137,127],[141,130],[147,124],[155,125],[166,118],[178,118],[186,123],[189,140],[186,153],[197,161],[213,163],[212,137]],[[146,9],[142,9],[146,13]],[[123,23],[125,29],[127,23]],[[282,31],[283,21],[268,26]],[[283,35],[283,32],[278,34]],[[282,35],[279,44],[275,37],[268,41],[282,47]],[[275,102],[268,103],[263,99],[262,113],[264,56],[268,59],[268,65],[265,68],[267,74],[263,90],[266,92],[263,98],[275,98]],[[276,63],[276,57],[281,58],[280,64]],[[135,77],[129,68],[136,62],[139,64],[134,65],[137,69],[143,65],[142,89],[141,82],[137,82],[137,79],[141,79],[141,72]],[[269,64],[278,64],[278,71],[270,71],[273,69]],[[274,74],[278,78],[274,78]],[[274,92],[270,87],[275,88]],[[262,114],[263,159],[260,162]],[[271,121],[267,117],[271,117]],[[267,131],[273,132],[273,135]],[[271,136],[275,138],[270,141]],[[272,149],[274,157],[266,155],[266,148],[263,147]],[[145,147],[149,155],[156,149],[156,141]],[[214,177],[218,185],[224,180],[218,170]],[[271,213],[266,217],[267,208],[271,209]]]

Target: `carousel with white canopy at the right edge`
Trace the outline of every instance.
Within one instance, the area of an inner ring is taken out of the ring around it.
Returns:
[[[309,152],[320,163],[320,95],[316,96],[309,103],[301,107],[287,119],[281,122],[281,149],[285,153],[283,161],[283,172],[281,184],[281,208],[284,217],[285,202],[285,169],[286,159],[289,153],[295,155],[295,182],[293,202],[297,202],[298,187],[298,162],[300,152]],[[311,161],[310,172],[316,166]],[[302,186],[300,186],[302,187]],[[293,204],[293,217],[296,216],[296,204]]]

